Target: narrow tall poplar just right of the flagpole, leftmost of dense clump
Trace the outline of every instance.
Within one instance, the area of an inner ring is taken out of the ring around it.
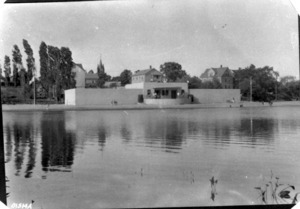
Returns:
[[[49,98],[49,89],[51,86],[51,82],[49,80],[48,74],[49,74],[49,57],[48,57],[48,46],[45,42],[41,42],[40,49],[39,49],[39,55],[40,55],[40,80],[41,85],[44,88],[46,92],[46,96]]]

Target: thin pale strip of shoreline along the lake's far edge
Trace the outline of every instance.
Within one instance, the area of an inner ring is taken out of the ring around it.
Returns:
[[[237,103],[211,103],[211,104],[184,104],[184,105],[85,105],[71,106],[64,104],[52,105],[29,105],[17,104],[6,105],[2,104],[2,111],[80,111],[80,110],[152,110],[152,109],[206,109],[206,108],[247,108],[247,107],[283,107],[283,106],[300,106],[300,101],[283,101],[274,102],[272,106],[268,103],[261,102],[237,102]]]

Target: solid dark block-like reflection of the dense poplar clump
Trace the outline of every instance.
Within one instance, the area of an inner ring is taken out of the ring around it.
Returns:
[[[76,137],[66,131],[64,112],[44,112],[41,123],[43,171],[62,171],[71,168]],[[65,170],[67,171],[67,170]]]

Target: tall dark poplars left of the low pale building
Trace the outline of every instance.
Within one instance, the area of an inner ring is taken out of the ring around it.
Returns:
[[[1,80],[5,87],[20,87],[25,99],[33,96],[33,81],[36,81],[44,89],[48,98],[56,101],[61,99],[61,92],[75,87],[74,74],[72,73],[72,52],[68,47],[55,47],[41,42],[40,78],[36,77],[36,64],[33,50],[27,40],[23,39],[24,52],[27,55],[26,67],[23,65],[22,53],[18,45],[12,49],[12,58],[4,57],[4,76],[0,66]],[[12,64],[12,69],[11,69]]]

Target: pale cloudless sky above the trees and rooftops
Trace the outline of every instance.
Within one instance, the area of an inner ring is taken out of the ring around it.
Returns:
[[[119,0],[3,4],[0,63],[22,40],[69,47],[73,61],[118,76],[177,62],[191,76],[207,68],[271,66],[299,78],[297,11],[289,0]]]

